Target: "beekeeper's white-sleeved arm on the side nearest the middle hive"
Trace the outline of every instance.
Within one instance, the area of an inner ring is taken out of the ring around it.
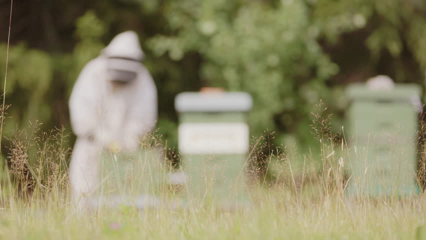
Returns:
[[[139,138],[155,128],[157,120],[157,89],[152,76],[142,67],[139,71],[138,97],[132,99],[125,128],[127,148],[137,147]]]

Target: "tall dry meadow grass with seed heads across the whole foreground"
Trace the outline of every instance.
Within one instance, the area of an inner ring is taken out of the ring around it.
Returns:
[[[84,214],[69,199],[68,134],[63,128],[41,132],[37,123],[32,124],[28,132],[16,131],[10,139],[10,164],[3,166],[1,181],[0,235],[5,239],[414,239],[426,216],[424,194],[371,197],[362,191],[362,181],[355,181],[359,184],[357,194],[346,194],[351,180],[348,166],[365,161],[366,156],[361,149],[352,154],[356,144],[346,142],[343,129],[333,133],[330,120],[326,107],[319,104],[311,125],[320,144],[318,154],[298,154],[273,145],[273,131],[253,137],[248,167],[241,166],[250,183],[249,206],[223,209],[214,199],[210,204],[173,205],[190,186],[165,184],[148,188],[163,203],[155,207],[140,210],[118,204],[99,206]],[[420,123],[421,131],[424,125]],[[423,149],[424,144],[421,146]],[[136,162],[135,168],[130,168],[136,171],[127,175],[125,182],[117,180],[118,188],[154,185],[152,176],[158,176],[158,168],[152,167],[154,153],[165,171],[176,170],[167,156],[177,153],[170,152],[161,136],[146,136],[140,147],[151,154],[124,157]],[[114,159],[117,155],[111,152],[105,154],[108,159],[125,160]],[[424,176],[422,162],[419,178]],[[150,180],[140,182],[140,172]],[[114,183],[113,178],[103,177]]]

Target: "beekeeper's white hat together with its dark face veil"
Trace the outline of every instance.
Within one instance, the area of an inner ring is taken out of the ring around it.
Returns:
[[[116,35],[101,54],[107,57],[110,79],[120,82],[134,79],[143,59],[139,38],[134,31],[124,31]]]

